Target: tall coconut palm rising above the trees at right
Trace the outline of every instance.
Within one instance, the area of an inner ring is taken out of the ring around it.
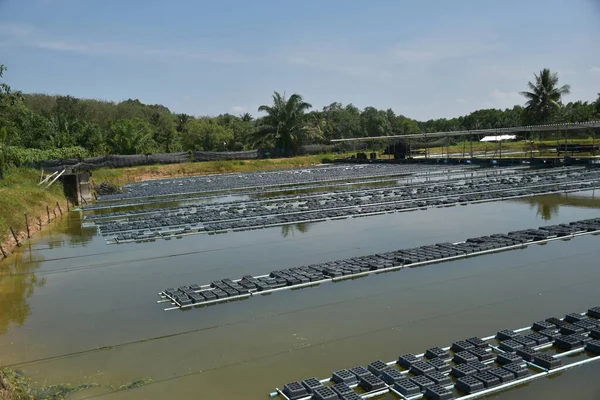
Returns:
[[[530,92],[521,92],[527,103],[525,111],[536,123],[548,123],[552,114],[560,109],[561,98],[571,93],[569,85],[558,87],[558,74],[548,68],[534,74],[535,83],[528,82]]]

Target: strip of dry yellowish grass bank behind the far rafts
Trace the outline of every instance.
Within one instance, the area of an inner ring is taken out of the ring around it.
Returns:
[[[268,171],[282,168],[302,168],[333,160],[331,154],[260,160],[221,160],[181,164],[144,165],[130,168],[102,168],[92,172],[94,182],[122,185],[146,179],[207,175],[229,172]]]

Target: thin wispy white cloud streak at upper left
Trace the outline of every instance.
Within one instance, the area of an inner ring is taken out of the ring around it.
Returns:
[[[160,48],[133,43],[76,41],[53,37],[30,26],[0,24],[0,33],[11,38],[8,45],[33,47],[42,50],[87,55],[120,55],[134,57],[180,57],[215,63],[240,63],[248,57],[228,50],[203,50],[199,48]],[[4,46],[7,43],[3,44]]]

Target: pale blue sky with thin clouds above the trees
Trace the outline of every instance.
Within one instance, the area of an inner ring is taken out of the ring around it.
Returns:
[[[600,92],[600,0],[0,0],[24,92],[256,115],[274,90],[417,119],[522,104],[550,68]]]

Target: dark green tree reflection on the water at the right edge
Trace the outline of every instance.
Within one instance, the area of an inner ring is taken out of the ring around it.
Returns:
[[[600,197],[595,191],[585,193],[549,194],[515,200],[527,203],[531,209],[536,209],[536,215],[544,221],[558,217],[560,207],[600,208]]]

